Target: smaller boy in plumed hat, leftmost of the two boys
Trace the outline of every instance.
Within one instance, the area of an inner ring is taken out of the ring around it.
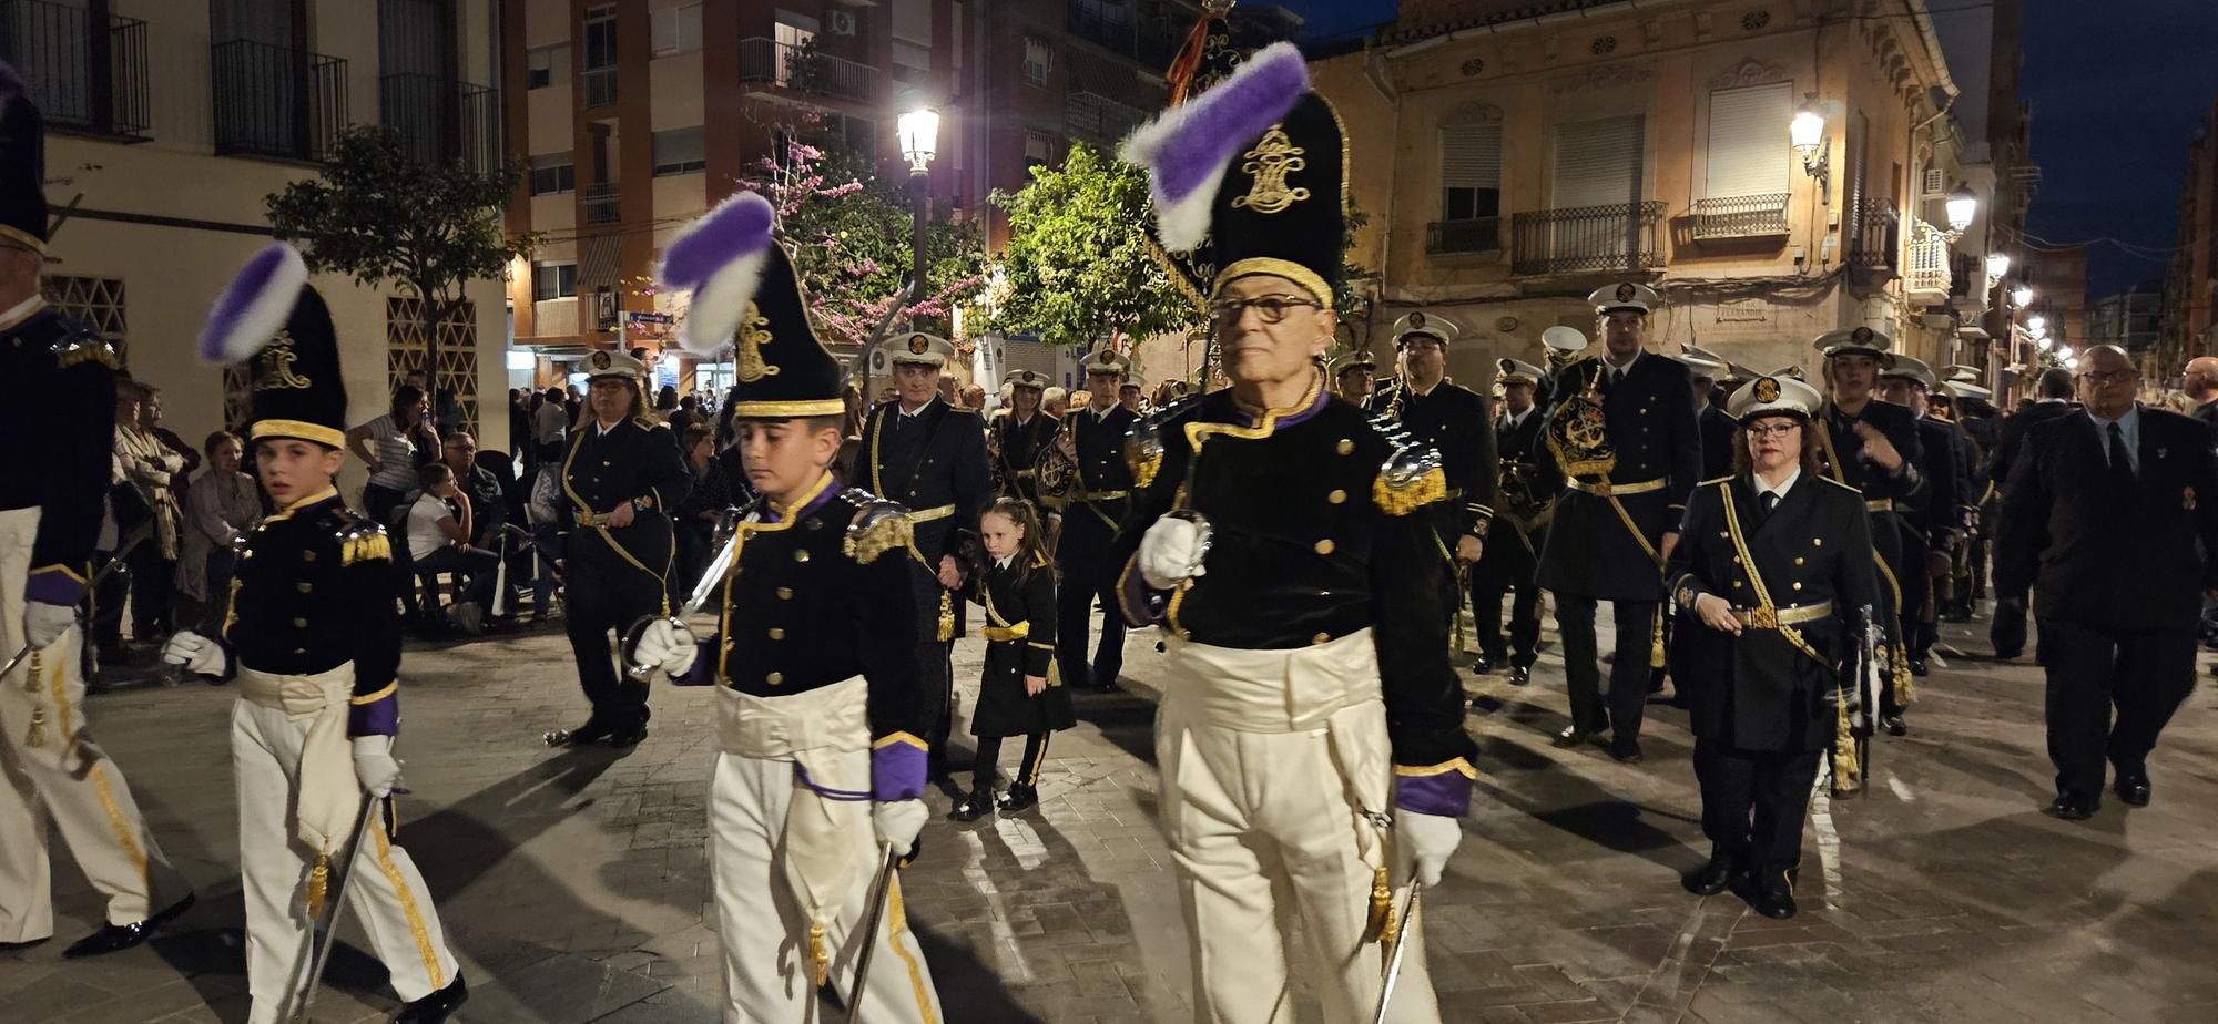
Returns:
[[[291,246],[257,253],[217,299],[206,361],[253,357],[253,443],[277,512],[242,543],[222,636],[175,634],[162,661],[237,678],[231,765],[240,793],[248,1022],[277,1022],[315,980],[308,935],[342,873],[364,800],[377,811],[346,867],[346,898],[406,1002],[433,1024],[466,997],[439,913],[384,800],[401,789],[401,661],[384,530],[339,501],[346,386],[330,310]]]

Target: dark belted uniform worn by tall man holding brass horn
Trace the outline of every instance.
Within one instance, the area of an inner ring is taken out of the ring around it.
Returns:
[[[1555,377],[1550,417],[1568,414],[1579,395],[1597,395],[1617,459],[1604,485],[1590,472],[1564,472],[1577,465],[1564,465],[1564,452],[1550,441],[1555,472],[1570,483],[1555,503],[1539,585],[1557,598],[1570,725],[1586,734],[1615,729],[1617,743],[1637,740],[1641,731],[1650,669],[1661,665],[1661,543],[1666,532],[1679,528],[1686,496],[1701,477],[1701,432],[1690,388],[1686,363],[1655,352],[1641,352],[1615,372],[1601,357],[1588,357]],[[1610,601],[1617,616],[1608,707],[1595,661],[1599,601]]]

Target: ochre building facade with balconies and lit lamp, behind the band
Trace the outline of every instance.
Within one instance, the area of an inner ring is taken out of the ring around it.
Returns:
[[[1464,379],[1537,363],[1550,326],[1590,335],[1584,299],[1615,279],[1664,293],[1659,350],[1759,370],[1863,324],[1954,361],[1992,295],[1987,224],[1945,219],[1961,186],[1992,208],[1992,173],[1919,0],[1406,0],[1313,78],[1371,217],[1351,255],[1380,270],[1371,326],[1455,319]]]

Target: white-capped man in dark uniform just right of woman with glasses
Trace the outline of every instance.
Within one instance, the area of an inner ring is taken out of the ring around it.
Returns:
[[[1817,350],[1825,359],[1825,403],[1817,410],[1819,472],[1863,492],[1872,512],[1872,556],[1879,559],[1879,596],[1885,603],[1881,629],[1890,643],[1890,683],[1879,689],[1879,727],[1888,736],[1910,731],[1903,707],[1910,703],[1910,649],[1903,643],[1903,603],[1907,587],[1925,572],[1923,552],[1916,572],[1903,561],[1903,523],[1912,521],[1930,494],[1921,463],[1916,417],[1907,408],[1881,401],[1879,370],[1894,359],[1894,339],[1872,328],[1841,328],[1819,335]]]

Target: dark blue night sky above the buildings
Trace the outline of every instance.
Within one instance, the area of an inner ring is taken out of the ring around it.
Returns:
[[[1282,0],[1311,35],[1393,20],[1395,0]],[[1983,0],[1927,0],[1932,11]],[[1965,84],[1970,86],[1970,84]],[[2027,0],[2021,98],[2034,104],[2041,193],[2027,231],[2041,239],[2098,242],[2089,299],[2165,275],[2176,244],[2187,142],[2218,100],[2218,2]]]

